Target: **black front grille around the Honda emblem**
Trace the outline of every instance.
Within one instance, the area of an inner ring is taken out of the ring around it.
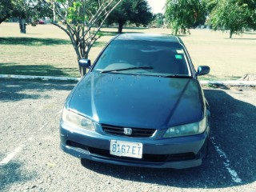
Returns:
[[[134,138],[149,138],[151,137],[155,129],[142,129],[142,128],[131,128],[132,134],[124,134],[124,128],[122,126],[110,126],[102,124],[102,129],[106,134],[113,134],[113,135],[122,135],[127,137],[134,137]]]

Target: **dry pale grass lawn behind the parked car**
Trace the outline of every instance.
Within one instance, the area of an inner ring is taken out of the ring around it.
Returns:
[[[78,63],[68,36],[53,25],[27,26],[20,34],[18,23],[0,25],[0,74],[78,77]],[[113,38],[117,28],[102,28],[102,38],[90,51],[92,62]],[[168,29],[125,28],[125,33],[170,34]],[[194,66],[207,65],[211,71],[201,79],[237,79],[256,74],[256,33],[234,35],[210,30],[191,30],[181,36]]]

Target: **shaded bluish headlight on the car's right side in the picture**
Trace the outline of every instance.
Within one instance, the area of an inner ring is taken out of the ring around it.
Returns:
[[[166,130],[164,138],[176,138],[194,134],[202,134],[206,130],[206,117],[200,122],[194,122],[182,126],[173,126]]]

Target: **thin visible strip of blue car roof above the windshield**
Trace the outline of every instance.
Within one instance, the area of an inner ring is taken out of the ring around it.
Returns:
[[[182,43],[180,38],[174,35],[167,35],[167,34],[141,34],[141,33],[120,34],[116,38],[114,38],[114,40],[138,40],[138,41]]]

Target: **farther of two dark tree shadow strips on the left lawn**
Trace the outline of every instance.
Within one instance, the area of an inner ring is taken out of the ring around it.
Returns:
[[[58,38],[0,38],[2,45],[55,46],[71,44],[69,40]]]

